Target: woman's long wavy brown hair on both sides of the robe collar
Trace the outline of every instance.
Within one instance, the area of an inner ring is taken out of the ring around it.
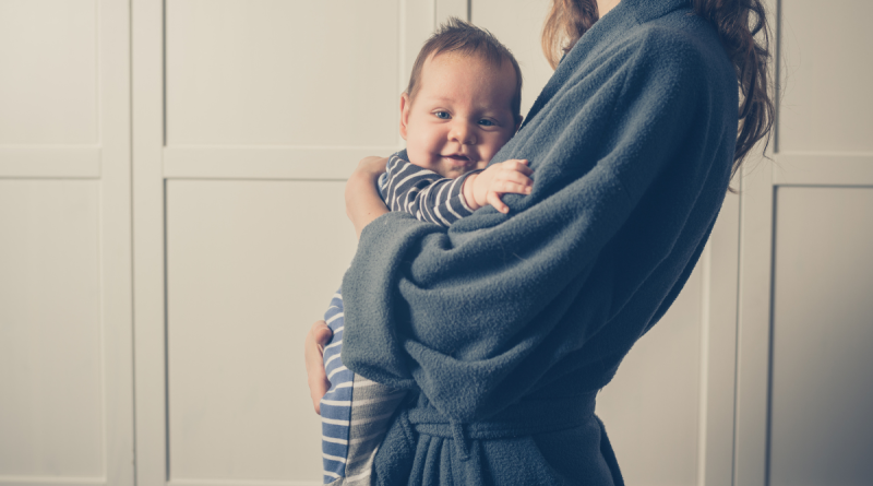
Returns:
[[[691,0],[694,13],[718,32],[740,83],[740,127],[731,177],[746,154],[766,137],[769,143],[775,106],[769,73],[769,26],[762,0]],[[552,0],[542,27],[542,51],[552,69],[597,22],[597,0]],[[765,147],[766,147],[765,143]]]

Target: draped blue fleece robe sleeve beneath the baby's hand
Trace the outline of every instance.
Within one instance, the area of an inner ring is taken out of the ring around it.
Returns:
[[[530,195],[504,198],[510,214],[483,208],[443,228],[388,213],[363,229],[343,282],[349,368],[470,422],[597,335],[622,304],[608,245],[705,98],[694,49],[653,55],[653,40],[669,42],[627,46],[606,82],[571,76],[494,157],[534,169]]]

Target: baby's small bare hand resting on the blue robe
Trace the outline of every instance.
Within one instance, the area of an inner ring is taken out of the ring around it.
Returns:
[[[473,174],[464,181],[464,199],[471,210],[491,204],[501,213],[509,213],[510,206],[500,199],[503,194],[529,194],[534,181],[534,170],[527,161],[511,159],[492,164],[481,173]]]

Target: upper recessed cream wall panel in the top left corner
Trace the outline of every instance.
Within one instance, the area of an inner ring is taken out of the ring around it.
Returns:
[[[98,141],[95,0],[0,2],[0,145]]]

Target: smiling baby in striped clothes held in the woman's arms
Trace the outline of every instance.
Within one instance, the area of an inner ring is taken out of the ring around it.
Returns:
[[[418,54],[400,97],[400,135],[407,147],[390,157],[379,179],[388,209],[442,226],[486,204],[509,212],[500,197],[529,193],[531,170],[526,161],[486,166],[518,129],[521,103],[522,72],[509,49],[457,19],[442,25]],[[380,170],[383,161],[372,157],[362,165]],[[379,198],[371,180],[352,190]],[[338,292],[324,319],[334,332],[324,348],[331,381],[321,401],[324,483],[370,484],[372,458],[406,391],[343,366]]]

